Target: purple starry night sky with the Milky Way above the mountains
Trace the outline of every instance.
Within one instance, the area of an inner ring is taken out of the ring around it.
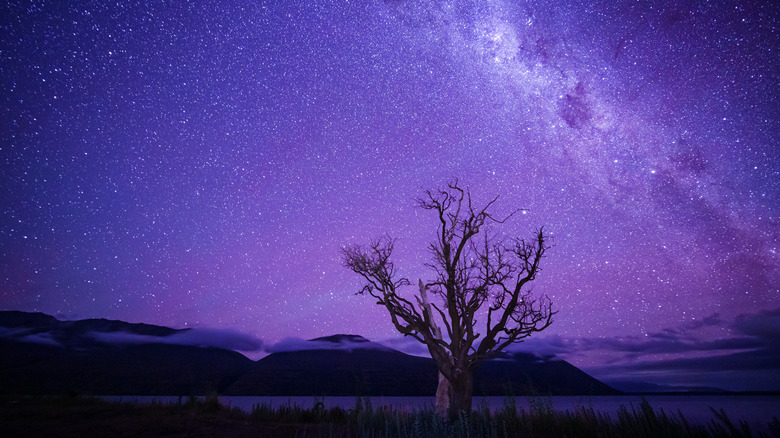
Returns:
[[[780,389],[770,3],[4,3],[0,309],[407,345],[340,248],[430,277],[457,177],[553,236],[519,348]]]

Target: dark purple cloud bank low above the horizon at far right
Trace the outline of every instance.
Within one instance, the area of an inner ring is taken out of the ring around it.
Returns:
[[[733,336],[703,340],[697,329],[730,328]],[[573,342],[572,355],[603,351],[620,355],[607,365],[588,369],[600,378],[645,379],[734,390],[780,389],[780,308],[741,314],[732,322],[716,314],[701,323],[624,338],[583,338]],[[648,360],[650,357],[657,359]]]

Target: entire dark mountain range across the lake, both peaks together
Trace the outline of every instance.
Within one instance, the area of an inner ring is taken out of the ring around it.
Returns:
[[[432,396],[437,371],[356,335],[287,341],[252,362],[226,348],[182,343],[193,332],[106,319],[60,321],[0,312],[0,394]],[[222,345],[222,344],[220,344]],[[607,395],[617,391],[560,360],[486,361],[475,395]]]

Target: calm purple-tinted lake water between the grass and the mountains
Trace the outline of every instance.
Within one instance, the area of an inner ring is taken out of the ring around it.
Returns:
[[[164,396],[125,396],[105,397],[110,400],[175,403],[179,397]],[[389,407],[397,410],[419,410],[433,407],[433,397],[368,397],[374,408]],[[714,419],[710,407],[723,409],[729,418],[738,423],[738,420],[748,422],[754,432],[767,431],[767,424],[772,417],[780,418],[780,396],[752,396],[752,395],[650,395],[645,396],[656,412],[663,410],[667,414],[681,412],[691,423],[706,424]],[[183,399],[186,401],[186,398]],[[355,397],[228,397],[220,396],[220,402],[225,406],[237,407],[245,411],[251,411],[255,405],[267,405],[279,407],[283,405],[297,405],[301,408],[312,408],[317,401],[322,401],[325,408],[341,407],[350,409],[355,406]],[[502,409],[505,397],[474,397],[474,408],[481,404],[487,404],[492,411]],[[615,414],[621,406],[630,411],[631,408],[639,409],[641,396],[556,396],[540,397],[536,399],[542,403],[552,403],[552,408],[559,411],[573,411],[579,407],[592,407],[596,411]],[[518,408],[530,410],[532,400],[525,396],[515,398]]]

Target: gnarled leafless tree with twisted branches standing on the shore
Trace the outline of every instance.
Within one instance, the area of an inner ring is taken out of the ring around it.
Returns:
[[[440,227],[429,246],[432,261],[426,263],[433,279],[419,281],[414,301],[401,294],[411,282],[398,275],[391,261],[393,239],[342,251],[346,267],[366,281],[358,293],[374,297],[387,308],[399,332],[428,347],[439,369],[436,411],[440,415],[470,412],[474,368],[547,328],[556,313],[546,296],[535,298],[526,287],[539,272],[549,249],[548,237],[541,228],[531,241],[490,236],[491,225],[503,224],[520,211],[496,218],[488,210],[497,200],[498,196],[477,209],[457,180],[445,189],[426,191],[418,200],[420,208],[438,215]]]

